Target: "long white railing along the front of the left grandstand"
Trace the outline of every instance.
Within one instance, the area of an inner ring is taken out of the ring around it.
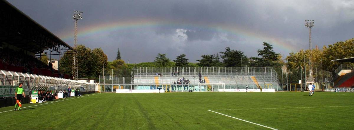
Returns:
[[[54,92],[58,92],[60,89],[65,90],[68,87],[72,89],[81,88],[80,91],[82,92],[96,91],[95,89],[98,85],[72,79],[0,70],[0,86],[16,86],[20,82],[23,83],[26,95],[30,95],[30,91],[32,90],[53,90]]]

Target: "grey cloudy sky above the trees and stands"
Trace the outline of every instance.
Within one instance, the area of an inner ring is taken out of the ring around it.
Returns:
[[[158,53],[186,54],[196,62],[202,54],[225,47],[257,56],[262,42],[277,53],[308,48],[304,20],[314,19],[313,47],[353,37],[354,1],[349,0],[8,0],[19,10],[73,46],[74,10],[83,11],[78,42],[101,47],[112,61],[119,47],[129,63],[152,62]],[[103,29],[83,35],[95,25],[115,21],[158,24]],[[161,23],[160,23],[161,22]],[[80,32],[81,30],[81,32]]]

